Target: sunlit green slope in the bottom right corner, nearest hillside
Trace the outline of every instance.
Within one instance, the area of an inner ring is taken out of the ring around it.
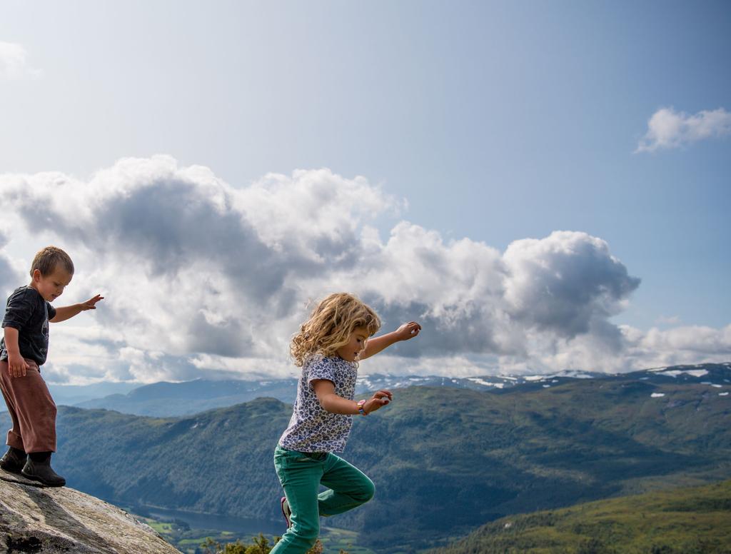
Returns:
[[[731,553],[731,481],[515,515],[430,554]]]

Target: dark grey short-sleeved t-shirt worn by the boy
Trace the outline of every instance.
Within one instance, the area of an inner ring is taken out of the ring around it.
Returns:
[[[20,355],[43,365],[48,355],[48,320],[55,315],[56,308],[36,289],[19,287],[7,299],[2,327],[17,329]],[[4,337],[0,340],[0,360],[7,360]]]

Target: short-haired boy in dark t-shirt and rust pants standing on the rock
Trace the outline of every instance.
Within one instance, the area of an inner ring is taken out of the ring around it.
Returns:
[[[0,467],[50,487],[62,487],[66,479],[50,467],[51,452],[56,452],[56,403],[40,373],[48,354],[48,322],[94,310],[102,297],[61,308],[50,305],[74,275],[71,258],[56,246],[36,254],[30,273],[31,284],[10,295],[2,320],[0,389],[12,429],[7,432],[10,448],[0,459]]]

